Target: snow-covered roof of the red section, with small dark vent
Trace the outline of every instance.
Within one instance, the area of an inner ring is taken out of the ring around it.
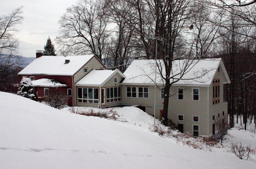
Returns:
[[[94,55],[78,56],[41,56],[20,71],[19,75],[45,74],[72,76],[80,70]],[[65,64],[65,60],[69,60]]]

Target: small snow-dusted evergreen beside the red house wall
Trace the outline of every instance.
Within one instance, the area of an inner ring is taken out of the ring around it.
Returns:
[[[34,100],[35,95],[33,87],[34,86],[30,78],[23,77],[23,79],[20,82],[20,87],[19,91],[17,92],[17,95]]]

